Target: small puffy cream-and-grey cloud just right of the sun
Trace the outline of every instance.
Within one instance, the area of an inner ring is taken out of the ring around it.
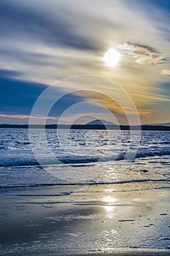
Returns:
[[[155,53],[154,49],[147,47],[146,45],[137,45],[125,42],[123,44],[117,45],[117,48],[123,53],[132,56],[136,63],[139,64],[162,64],[166,62],[163,56],[159,56]]]

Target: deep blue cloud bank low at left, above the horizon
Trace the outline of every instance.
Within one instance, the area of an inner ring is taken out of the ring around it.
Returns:
[[[41,83],[13,80],[10,76],[18,72],[0,69],[0,113],[6,115],[30,115],[36,99],[47,89]],[[58,88],[58,91],[63,89]],[[66,90],[64,90],[64,93]],[[60,116],[69,106],[84,100],[76,94],[66,94],[50,111],[50,116]]]

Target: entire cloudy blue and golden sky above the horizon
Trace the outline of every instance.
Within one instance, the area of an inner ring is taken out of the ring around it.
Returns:
[[[126,124],[134,110],[117,103],[121,90],[142,124],[170,121],[169,0],[1,0],[0,35],[1,124],[27,124],[51,86],[63,97],[35,123]]]

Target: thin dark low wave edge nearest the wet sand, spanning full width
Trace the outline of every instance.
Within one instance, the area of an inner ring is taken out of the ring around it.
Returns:
[[[112,185],[112,184],[128,184],[128,183],[157,183],[157,182],[166,182],[169,183],[169,179],[136,179],[136,180],[127,180],[127,181],[89,181],[89,182],[60,182],[60,183],[36,183],[36,184],[7,184],[7,185],[0,185],[0,189],[8,189],[8,188],[22,188],[22,187],[55,187],[55,186],[82,186],[82,185]],[[63,192],[65,193],[65,192]],[[67,193],[67,192],[66,192]],[[72,192],[69,192],[72,193]]]

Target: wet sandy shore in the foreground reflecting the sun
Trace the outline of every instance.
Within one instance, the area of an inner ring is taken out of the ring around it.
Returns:
[[[151,188],[6,192],[0,198],[0,255],[169,255],[170,189]]]

